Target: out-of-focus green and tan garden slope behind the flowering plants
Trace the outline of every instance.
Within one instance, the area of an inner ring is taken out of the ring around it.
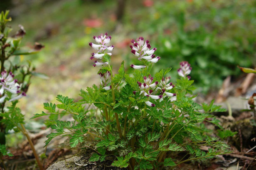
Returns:
[[[227,76],[241,76],[237,65],[256,65],[255,0],[1,0],[0,10],[10,9],[14,34],[24,26],[22,43],[45,48],[31,60],[37,72],[50,79],[34,77],[28,97],[21,99],[27,118],[54,102],[57,94],[78,99],[78,92],[99,83],[92,67],[88,42],[108,32],[115,46],[112,61],[117,70],[136,61],[130,53],[130,39],[149,39],[161,60],[154,71],[173,67],[183,60],[192,66],[197,91],[206,94],[218,89]]]

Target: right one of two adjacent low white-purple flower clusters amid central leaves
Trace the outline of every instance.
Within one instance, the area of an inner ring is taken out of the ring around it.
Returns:
[[[165,97],[173,97],[176,96],[175,93],[167,92],[167,90],[171,90],[174,85],[173,83],[169,82],[171,77],[162,78],[159,86],[157,87],[158,90],[161,90],[160,94],[163,96],[159,101],[162,101]]]

